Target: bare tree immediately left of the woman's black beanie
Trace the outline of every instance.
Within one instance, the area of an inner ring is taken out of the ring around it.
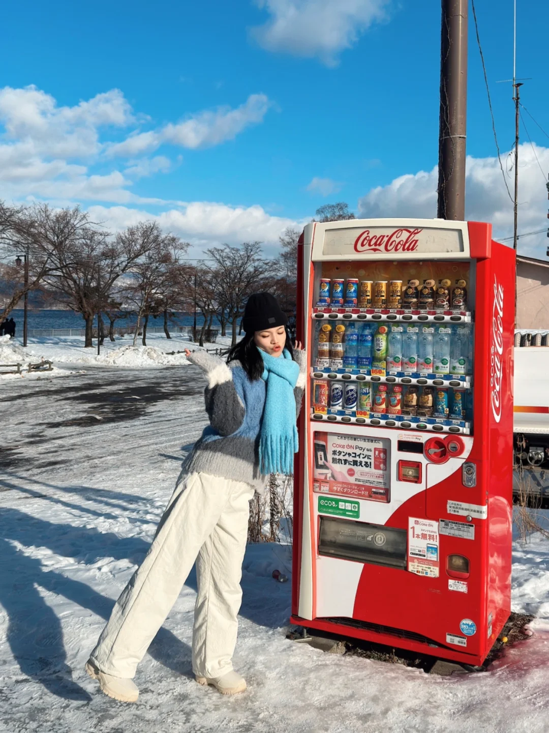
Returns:
[[[248,296],[265,287],[273,263],[262,259],[261,242],[245,242],[240,247],[213,247],[207,253],[215,260],[215,266],[207,269],[216,299],[225,304],[234,346],[238,317],[243,314]]]

